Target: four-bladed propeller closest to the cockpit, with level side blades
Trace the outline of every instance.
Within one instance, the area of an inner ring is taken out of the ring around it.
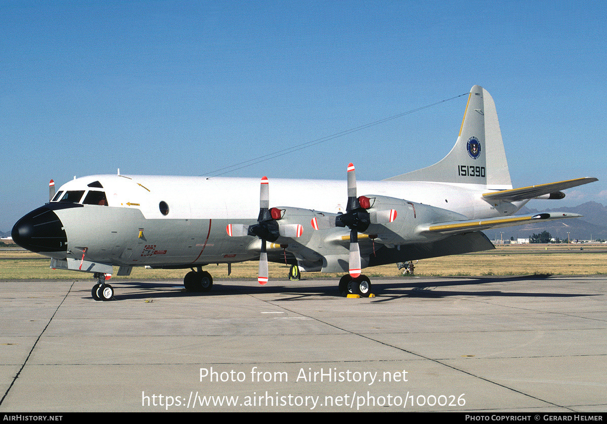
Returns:
[[[300,224],[279,225],[277,221],[282,219],[283,215],[283,210],[270,208],[268,177],[263,177],[259,190],[259,216],[257,217],[257,224],[228,224],[228,227],[226,227],[226,231],[230,237],[257,236],[261,239],[262,247],[259,255],[257,281],[262,285],[268,282],[268,251],[266,241],[275,242],[281,236],[297,238],[304,232],[304,227]]]

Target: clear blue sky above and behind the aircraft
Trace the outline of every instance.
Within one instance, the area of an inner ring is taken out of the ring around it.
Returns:
[[[474,84],[495,100],[515,186],[600,179],[530,207],[605,204],[606,17],[604,1],[4,0],[0,230],[51,178],[208,174]],[[401,174],[449,152],[465,106],[226,176]]]

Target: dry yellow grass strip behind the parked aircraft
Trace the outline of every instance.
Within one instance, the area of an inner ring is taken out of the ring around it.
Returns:
[[[580,248],[583,247],[583,250]],[[7,279],[87,279],[87,273],[49,268],[50,260],[27,251],[0,250],[0,280]],[[254,279],[257,263],[232,265],[228,276],[225,264],[205,267],[213,278]],[[116,269],[117,270],[117,269]],[[187,270],[149,270],[133,268],[129,279],[183,279]],[[396,265],[367,268],[368,276],[401,276]],[[286,278],[285,264],[270,264],[270,278]],[[422,259],[416,264],[418,276],[472,275],[594,275],[607,273],[607,245],[512,245],[467,255]],[[306,278],[335,278],[341,274],[307,273]],[[123,277],[121,277],[123,278]]]

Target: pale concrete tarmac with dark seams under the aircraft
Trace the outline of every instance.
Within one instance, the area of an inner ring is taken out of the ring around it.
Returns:
[[[0,283],[0,411],[607,409],[607,277]]]

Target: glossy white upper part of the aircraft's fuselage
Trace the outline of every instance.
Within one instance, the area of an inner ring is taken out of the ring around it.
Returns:
[[[259,182],[254,178],[174,176],[90,176],[65,183],[59,191],[86,190],[98,180],[110,207],[136,208],[146,219],[256,219],[259,213]],[[100,190],[100,189],[91,189]],[[482,199],[487,188],[475,184],[360,181],[358,195],[396,197],[463,214],[467,219],[504,216],[518,210],[501,205],[498,210]],[[271,179],[270,207],[338,213],[345,210],[344,180]],[[169,213],[158,208],[166,202]]]

